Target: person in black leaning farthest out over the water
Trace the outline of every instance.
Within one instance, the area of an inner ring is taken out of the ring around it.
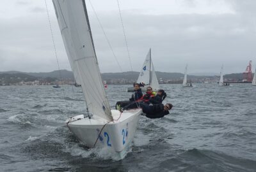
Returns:
[[[147,104],[140,103],[140,107],[142,108],[143,113],[146,113],[146,117],[148,118],[162,118],[164,115],[169,114],[169,110],[172,109],[172,104],[163,103],[158,104]]]

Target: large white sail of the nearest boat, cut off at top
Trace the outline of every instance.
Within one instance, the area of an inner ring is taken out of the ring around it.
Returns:
[[[83,0],[53,0],[58,24],[76,82],[83,88],[89,113],[113,120],[93,45]]]

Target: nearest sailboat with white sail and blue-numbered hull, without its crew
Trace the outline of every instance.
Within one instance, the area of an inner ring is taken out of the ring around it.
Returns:
[[[104,148],[121,159],[134,138],[141,109],[111,110],[103,87],[84,0],[53,0],[70,66],[81,83],[86,115],[66,120],[87,147]]]

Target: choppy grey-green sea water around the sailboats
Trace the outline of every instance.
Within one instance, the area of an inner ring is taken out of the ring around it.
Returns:
[[[131,85],[108,85],[114,108]],[[0,87],[0,171],[256,171],[256,87],[160,85],[170,115],[141,116],[124,159],[87,148],[65,120],[86,113],[81,87]],[[65,94],[65,96],[64,96]]]

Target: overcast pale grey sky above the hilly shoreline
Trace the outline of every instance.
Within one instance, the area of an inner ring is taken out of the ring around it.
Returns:
[[[122,66],[131,71],[116,0],[91,0]],[[256,1],[119,0],[132,68],[140,71],[148,49],[156,71],[188,73],[243,72],[256,64]],[[70,69],[58,22],[47,0],[61,69]],[[120,72],[86,0],[102,72]],[[58,69],[44,0],[2,0],[0,71]]]

